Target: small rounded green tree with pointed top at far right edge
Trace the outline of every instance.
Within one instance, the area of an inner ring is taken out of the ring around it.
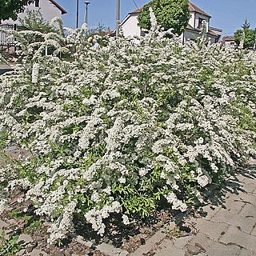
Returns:
[[[250,29],[250,23],[247,21],[247,19],[245,19],[245,22],[242,24],[242,29],[234,32],[234,41],[237,44],[240,44],[242,39],[244,49],[254,48],[256,31]]]

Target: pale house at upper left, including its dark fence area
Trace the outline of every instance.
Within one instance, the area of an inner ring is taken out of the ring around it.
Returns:
[[[38,10],[39,8],[42,17],[48,22],[54,17],[62,18],[62,14],[67,13],[66,10],[54,0],[35,0],[34,3],[25,7],[23,13],[18,14],[18,18],[25,18],[26,10]],[[0,22],[0,28],[4,30],[21,30],[22,28],[18,26],[18,24],[18,19],[16,21],[8,19]],[[11,53],[15,51],[14,38],[10,38],[5,32],[0,32],[0,52],[6,50]]]

